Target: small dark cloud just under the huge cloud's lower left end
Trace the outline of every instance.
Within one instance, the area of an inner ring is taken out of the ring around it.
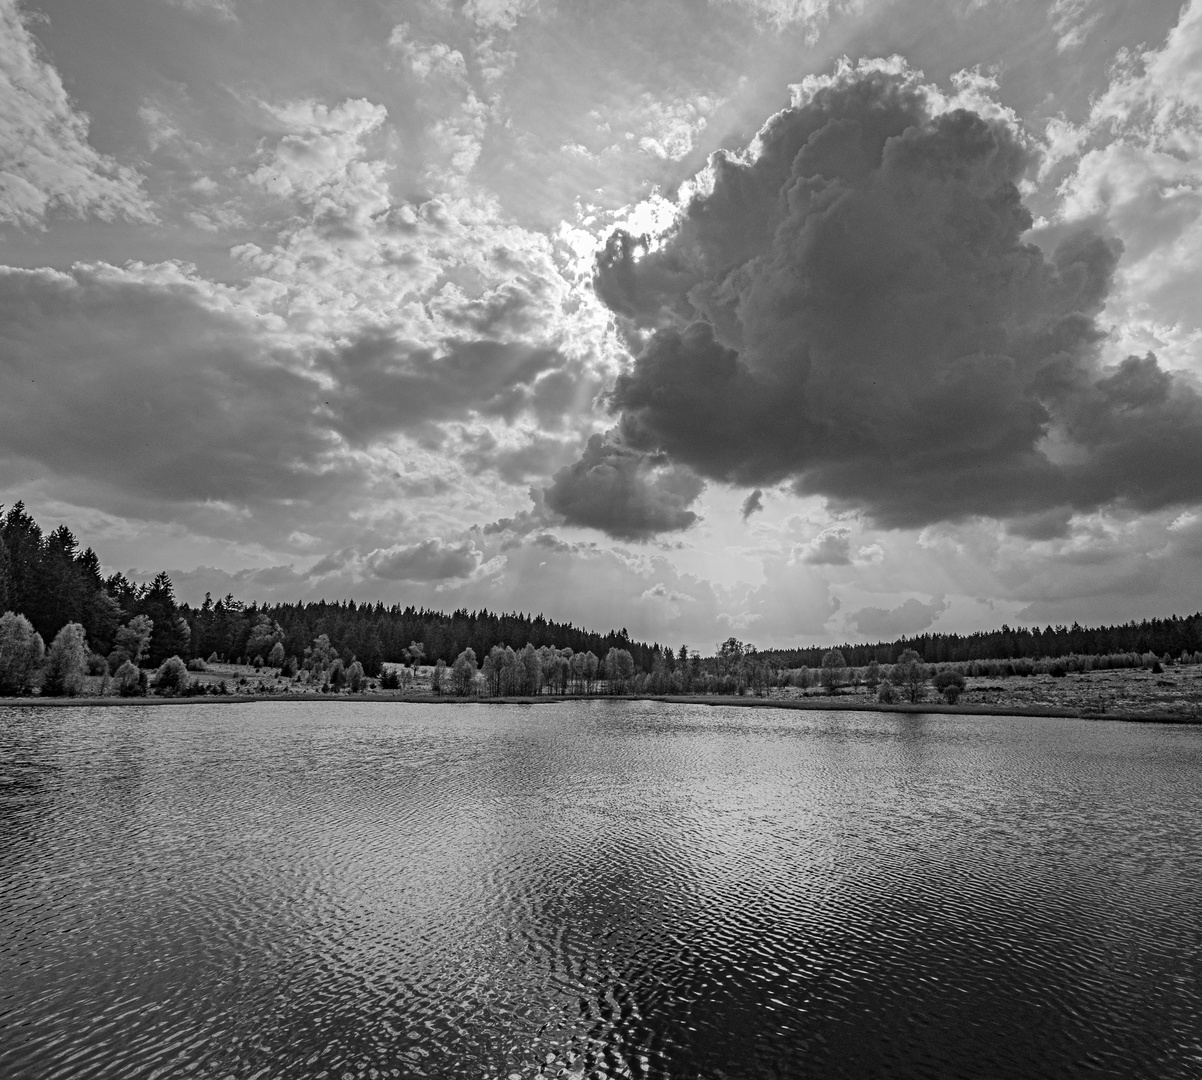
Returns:
[[[572,525],[647,539],[692,525],[697,514],[688,507],[703,488],[688,467],[594,435],[581,460],[555,473],[545,497],[547,507]]]

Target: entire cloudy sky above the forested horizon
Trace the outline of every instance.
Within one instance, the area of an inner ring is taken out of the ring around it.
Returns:
[[[712,651],[1202,608],[1202,0],[0,0],[0,503]]]

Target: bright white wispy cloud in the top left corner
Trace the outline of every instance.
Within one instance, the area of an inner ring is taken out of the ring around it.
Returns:
[[[142,177],[93,148],[88,124],[17,0],[0,0],[0,223],[36,228],[55,211],[155,220]]]

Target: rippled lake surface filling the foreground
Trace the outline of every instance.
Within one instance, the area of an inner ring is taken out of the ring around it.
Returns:
[[[1200,1076],[1200,825],[1198,728],[0,709],[0,1076]]]

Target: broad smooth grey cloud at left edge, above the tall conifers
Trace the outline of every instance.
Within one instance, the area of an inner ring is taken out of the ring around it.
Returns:
[[[150,514],[326,499],[353,483],[314,423],[314,382],[254,320],[215,309],[186,281],[0,268],[0,455]]]

